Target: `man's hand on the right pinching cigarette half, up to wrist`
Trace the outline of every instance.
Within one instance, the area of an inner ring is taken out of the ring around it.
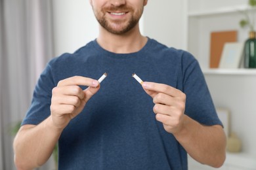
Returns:
[[[156,120],[169,133],[179,133],[184,121],[186,95],[180,90],[154,82],[143,82],[145,92],[153,98]]]

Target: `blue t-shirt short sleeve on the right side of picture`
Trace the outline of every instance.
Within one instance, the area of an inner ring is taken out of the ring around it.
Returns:
[[[186,94],[185,113],[203,125],[222,125],[198,61],[185,52],[182,63],[183,91]]]

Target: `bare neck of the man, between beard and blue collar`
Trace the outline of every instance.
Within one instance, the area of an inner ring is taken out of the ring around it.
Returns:
[[[109,33],[100,27],[100,34],[97,38],[97,42],[102,48],[117,54],[138,52],[147,41],[148,39],[140,34],[139,26],[123,35]]]

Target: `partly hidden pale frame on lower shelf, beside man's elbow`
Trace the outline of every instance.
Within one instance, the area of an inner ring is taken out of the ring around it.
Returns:
[[[230,111],[228,109],[217,108],[216,109],[219,119],[223,123],[224,132],[226,137],[230,135]]]

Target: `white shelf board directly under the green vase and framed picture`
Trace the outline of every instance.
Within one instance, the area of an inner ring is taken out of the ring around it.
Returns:
[[[203,69],[205,75],[256,75],[256,69]]]

